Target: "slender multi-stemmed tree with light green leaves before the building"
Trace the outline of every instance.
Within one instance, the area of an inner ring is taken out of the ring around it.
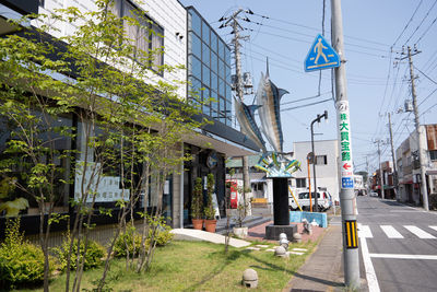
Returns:
[[[143,34],[156,34],[139,11],[129,16],[115,15],[109,0],[97,0],[97,10],[76,8],[52,14],[31,15],[37,27],[0,39],[0,114],[10,127],[10,139],[0,163],[4,177],[17,166],[24,171],[14,183],[39,207],[39,238],[46,257],[45,291],[48,291],[48,237],[50,224],[66,219],[55,212],[64,196],[59,189],[74,182],[70,200],[74,218],[71,226],[70,257],[66,291],[80,291],[83,260],[76,258],[74,280],[70,283],[73,243],[85,244],[93,215],[113,215],[113,210],[95,208],[101,184],[107,176],[120,179],[117,201],[118,229],[108,248],[105,270],[97,287],[102,290],[110,264],[114,244],[133,220],[139,200],[146,201],[152,185],[158,194],[154,212],[144,211],[142,249],[138,271],[152,262],[163,214],[165,179],[188,160],[180,147],[185,135],[201,126],[192,119],[198,113],[176,94],[177,84],[150,82],[156,72],[182,70],[182,67],[151,66],[164,48],[143,50],[138,42]],[[71,35],[54,39],[50,32],[59,24],[72,27]],[[129,34],[129,27],[137,27]],[[61,74],[61,77],[59,77]],[[72,115],[78,127],[59,125],[58,117]],[[78,149],[59,149],[58,141],[75,142]],[[58,161],[74,166],[64,172]],[[150,245],[145,246],[145,226]],[[46,226],[46,227],[45,227]],[[79,250],[78,250],[79,253]]]

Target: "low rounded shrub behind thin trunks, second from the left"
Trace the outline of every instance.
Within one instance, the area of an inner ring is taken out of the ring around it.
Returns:
[[[63,241],[60,247],[54,248],[55,254],[58,256],[60,269],[67,269],[67,259],[70,249],[70,237]],[[99,245],[95,241],[87,241],[86,253],[85,250],[85,243],[81,241],[80,244],[80,261],[84,256],[84,264],[83,269],[88,270],[95,267],[98,267],[102,264],[102,258],[105,256],[105,247]],[[70,269],[74,270],[76,268],[76,259],[78,259],[78,240],[74,240],[73,243],[73,250],[71,253],[71,260],[70,260]]]

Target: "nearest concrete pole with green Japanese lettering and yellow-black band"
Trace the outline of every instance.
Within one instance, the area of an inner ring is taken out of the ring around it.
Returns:
[[[339,170],[341,170],[340,203],[343,226],[344,281],[347,288],[359,290],[359,254],[356,229],[356,197],[352,163],[349,122],[349,101],[346,92],[346,68],[343,40],[343,20],[341,1],[331,0],[332,45],[340,56],[341,65],[335,68],[335,107],[338,110],[338,130],[340,142]]]

